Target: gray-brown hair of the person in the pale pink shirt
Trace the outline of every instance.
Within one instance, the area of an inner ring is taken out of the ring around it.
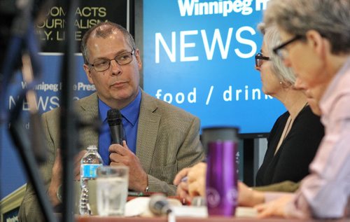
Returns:
[[[332,53],[350,52],[349,0],[270,0],[264,22],[301,36],[314,29],[330,41]]]

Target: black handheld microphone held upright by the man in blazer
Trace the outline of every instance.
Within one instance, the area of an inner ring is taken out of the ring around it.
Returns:
[[[123,123],[122,113],[119,109],[110,109],[107,112],[107,121],[111,130],[112,143],[123,146]]]

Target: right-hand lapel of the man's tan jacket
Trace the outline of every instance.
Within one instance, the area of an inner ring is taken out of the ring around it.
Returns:
[[[144,170],[149,173],[161,116],[155,112],[158,108],[155,98],[146,94],[143,90],[141,93],[136,155]]]

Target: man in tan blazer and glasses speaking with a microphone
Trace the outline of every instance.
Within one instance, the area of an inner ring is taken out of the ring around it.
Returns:
[[[97,92],[76,102],[78,118],[84,123],[93,123],[100,118],[100,102],[111,109],[122,110],[141,94],[136,153],[132,153],[127,144],[111,144],[111,165],[130,167],[129,188],[132,190],[175,195],[176,186],[172,181],[176,173],[204,158],[200,120],[139,88],[139,50],[129,32],[120,25],[103,22],[92,27],[83,38],[82,52],[85,73]],[[57,192],[62,183],[58,117],[59,109],[43,114],[49,158],[41,167],[41,173],[53,207],[59,205]],[[80,130],[78,136],[82,150],[99,144],[99,132],[89,127]],[[84,153],[80,151],[76,156],[77,166]],[[76,167],[74,172],[76,179],[80,176],[79,169]],[[36,195],[29,184],[20,207],[20,221],[41,221],[39,211]]]

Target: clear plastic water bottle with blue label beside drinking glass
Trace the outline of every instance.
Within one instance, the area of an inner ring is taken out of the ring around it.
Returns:
[[[87,147],[87,153],[85,153],[80,162],[80,215],[90,214],[89,187],[87,186],[87,182],[96,178],[96,169],[99,166],[102,166],[102,158],[101,155],[99,155],[97,152],[97,147]]]

